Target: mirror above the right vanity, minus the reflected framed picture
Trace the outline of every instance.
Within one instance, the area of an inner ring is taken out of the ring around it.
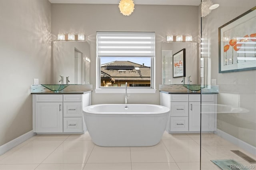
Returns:
[[[196,42],[162,42],[162,84],[182,84],[182,77],[173,77],[172,56],[182,49],[186,49],[186,77],[190,76],[191,84],[199,81],[199,58]],[[187,84],[187,79],[185,79]]]

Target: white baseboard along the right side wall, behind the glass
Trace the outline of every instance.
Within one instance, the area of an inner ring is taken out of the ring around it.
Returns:
[[[251,153],[251,154],[254,154],[256,155],[256,147],[220,130],[220,129],[217,129],[215,132],[215,134],[217,134],[218,136],[228,140],[229,142],[239,146],[240,148],[246,150],[247,152]]]

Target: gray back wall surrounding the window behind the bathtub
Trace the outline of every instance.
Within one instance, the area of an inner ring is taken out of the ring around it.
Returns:
[[[167,34],[191,34],[198,40],[198,6],[135,5],[123,16],[118,5],[52,4],[52,34],[84,32],[90,41],[91,84],[96,87],[96,31],[156,32],[156,88],[161,84],[161,42]],[[195,66],[196,67],[196,66]],[[92,104],[123,103],[124,94],[92,92]],[[159,91],[130,94],[128,103],[160,104]]]

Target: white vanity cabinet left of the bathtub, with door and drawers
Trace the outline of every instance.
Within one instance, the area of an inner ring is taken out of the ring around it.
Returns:
[[[90,93],[33,94],[33,131],[82,133],[86,130],[82,108],[90,105]]]

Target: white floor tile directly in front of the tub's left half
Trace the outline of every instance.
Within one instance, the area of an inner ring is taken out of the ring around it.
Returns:
[[[88,163],[130,163],[130,147],[101,147],[95,145]]]

